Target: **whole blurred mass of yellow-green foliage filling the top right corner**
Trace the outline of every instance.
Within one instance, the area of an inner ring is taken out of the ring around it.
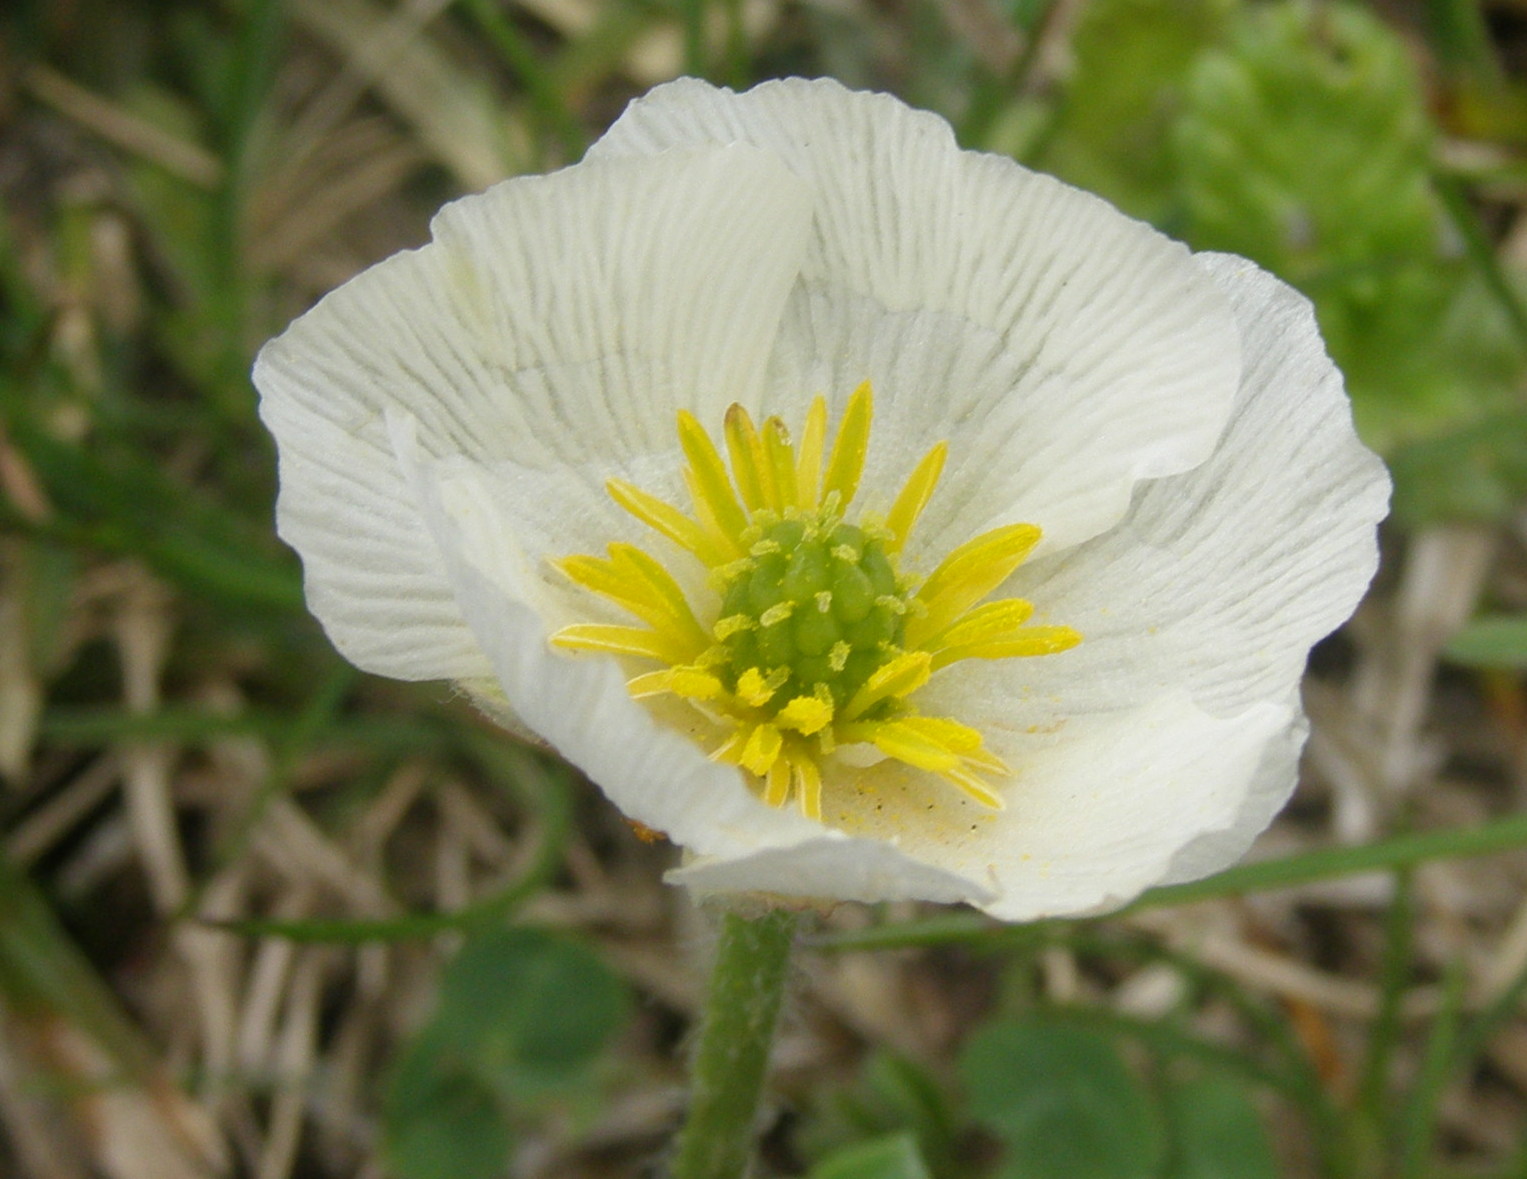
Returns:
[[[1471,249],[1475,214],[1446,200],[1394,27],[1356,3],[1095,0],[1073,49],[1032,159],[1309,295],[1411,524],[1519,502],[1527,432],[1472,434],[1522,403],[1519,279]],[[1428,447],[1449,437],[1474,444],[1440,470]]]

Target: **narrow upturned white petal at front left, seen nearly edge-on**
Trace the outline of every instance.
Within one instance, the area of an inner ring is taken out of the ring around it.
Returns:
[[[392,438],[461,614],[508,707],[530,730],[623,814],[701,855],[822,837],[818,823],[767,806],[736,768],[712,762],[690,736],[654,721],[631,699],[615,660],[553,651],[542,614],[548,573],[519,544],[492,475],[472,463],[429,460],[400,415]]]

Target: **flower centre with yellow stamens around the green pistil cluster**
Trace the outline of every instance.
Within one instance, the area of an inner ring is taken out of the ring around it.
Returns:
[[[611,544],[608,557],[556,567],[644,626],[579,623],[551,635],[570,651],[655,661],[628,681],[632,696],[672,695],[721,727],[712,750],[760,785],[765,802],[794,796],[822,817],[823,770],[892,757],[936,774],[976,802],[1002,806],[988,777],[1008,767],[982,735],[922,715],[912,696],[933,673],[968,658],[1048,655],[1081,641],[1069,626],[1028,626],[1022,599],[982,602],[1040,539],[1009,524],[954,548],[924,579],[898,556],[927,506],[948,452],[938,443],[883,516],[844,518],[864,469],[873,399],[863,383],[823,461],[826,402],[817,397],[799,446],[779,418],[764,428],[727,411],[721,452],[689,414],[678,418],[693,515],[628,483],[611,496],[709,570],[692,605],[652,556]],[[702,622],[704,619],[704,622]]]

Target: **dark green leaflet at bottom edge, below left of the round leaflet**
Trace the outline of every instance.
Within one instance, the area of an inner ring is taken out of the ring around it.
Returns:
[[[493,1179],[507,1168],[512,1136],[498,1097],[446,1051],[438,1029],[399,1061],[382,1116],[399,1179]]]

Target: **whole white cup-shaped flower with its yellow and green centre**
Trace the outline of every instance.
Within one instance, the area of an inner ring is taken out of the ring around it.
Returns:
[[[1026,919],[1225,866],[1388,498],[1289,287],[826,81],[658,87],[255,382],[334,644],[699,890]]]

